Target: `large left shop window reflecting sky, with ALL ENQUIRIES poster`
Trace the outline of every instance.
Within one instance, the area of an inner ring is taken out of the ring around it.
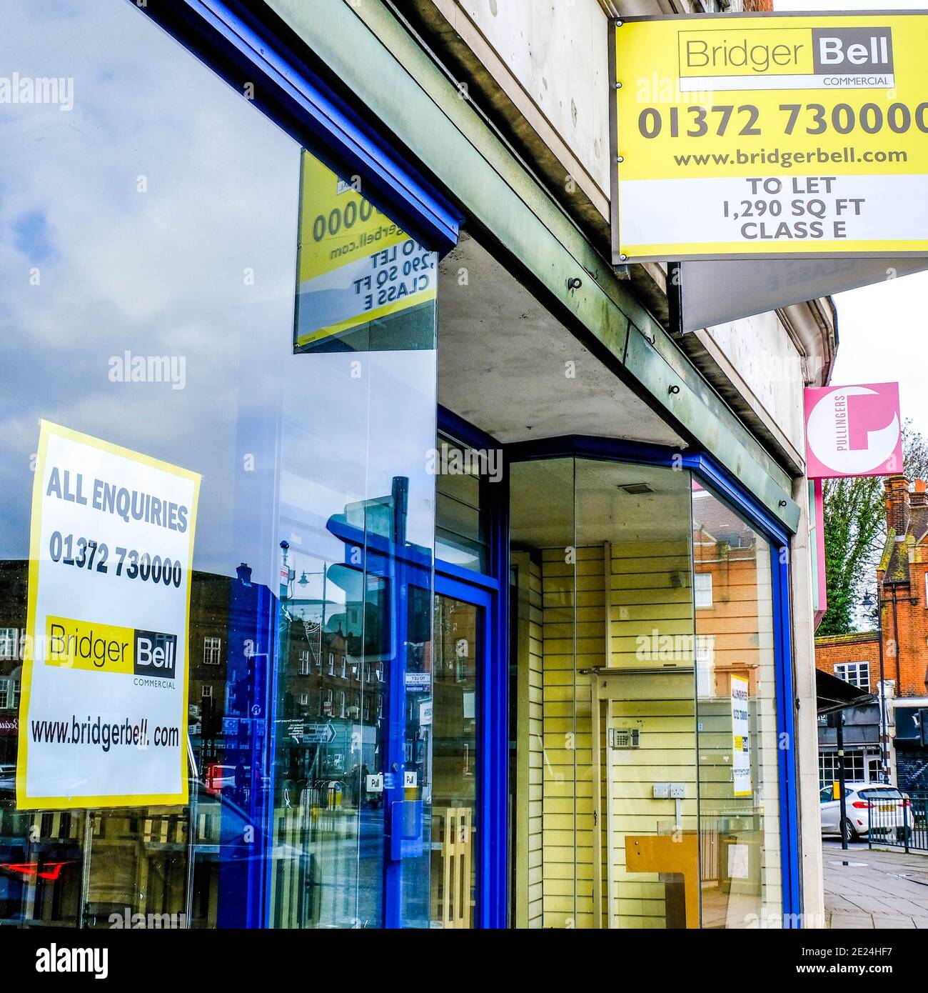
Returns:
[[[10,64],[60,67],[73,102],[0,105],[0,864],[39,869],[0,869],[0,923],[427,922],[428,797],[383,783],[418,727],[380,701],[431,631],[434,256],[135,5],[5,13]],[[345,289],[368,235],[394,289],[415,271],[400,305]],[[76,739],[30,721],[20,756],[20,697]]]

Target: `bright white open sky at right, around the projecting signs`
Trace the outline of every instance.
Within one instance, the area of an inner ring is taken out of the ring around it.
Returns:
[[[926,10],[928,2],[774,0],[776,10]],[[841,347],[833,382],[899,382],[903,418],[928,434],[925,332],[928,272],[865,286],[835,297]]]

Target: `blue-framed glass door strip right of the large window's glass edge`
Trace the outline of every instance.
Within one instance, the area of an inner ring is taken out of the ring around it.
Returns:
[[[436,576],[432,684],[432,926],[478,923],[480,680],[488,594]]]

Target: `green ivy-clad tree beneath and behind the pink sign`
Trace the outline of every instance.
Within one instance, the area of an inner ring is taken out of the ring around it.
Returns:
[[[928,478],[928,442],[908,420],[902,426],[902,455],[910,481]],[[886,541],[883,481],[879,476],[826,480],[823,493],[828,610],[817,634],[846,635],[855,630],[863,591],[875,585]]]

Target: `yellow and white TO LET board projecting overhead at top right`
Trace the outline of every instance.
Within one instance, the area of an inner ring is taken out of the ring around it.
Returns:
[[[613,261],[928,254],[928,17],[616,22]]]

